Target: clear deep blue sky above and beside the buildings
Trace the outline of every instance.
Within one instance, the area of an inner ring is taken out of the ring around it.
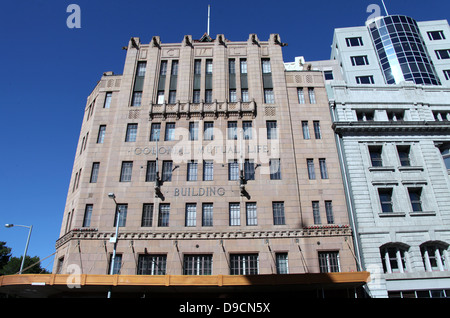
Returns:
[[[81,8],[81,28],[69,29],[71,3]],[[349,1],[161,1],[14,0],[0,4],[0,241],[13,256],[24,251],[41,259],[55,251],[86,97],[105,71],[121,74],[132,36],[148,43],[181,42],[206,32],[231,41],[250,33],[267,40],[278,33],[284,60],[330,56],[333,29],[364,25],[375,0]],[[386,0],[390,14],[418,21],[450,20],[448,0]],[[53,257],[42,265],[51,270]]]

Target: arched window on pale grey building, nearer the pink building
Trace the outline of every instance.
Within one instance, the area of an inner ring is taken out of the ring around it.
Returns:
[[[388,243],[380,247],[385,273],[404,273],[408,271],[407,253],[409,246],[403,243]]]

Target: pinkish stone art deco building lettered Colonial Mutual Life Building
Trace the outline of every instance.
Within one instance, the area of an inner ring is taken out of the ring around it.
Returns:
[[[87,98],[54,273],[118,274],[113,294],[364,285],[322,73],[285,71],[283,46],[132,38]]]

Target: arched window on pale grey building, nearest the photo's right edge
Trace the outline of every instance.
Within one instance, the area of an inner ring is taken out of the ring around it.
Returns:
[[[427,272],[450,270],[449,244],[429,241],[420,245],[423,264]]]

